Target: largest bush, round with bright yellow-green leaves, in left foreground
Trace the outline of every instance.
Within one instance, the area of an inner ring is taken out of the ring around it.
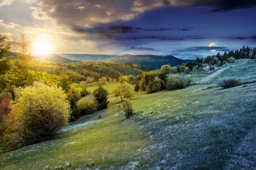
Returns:
[[[19,89],[14,107],[23,145],[48,140],[56,128],[68,122],[70,105],[66,98],[61,88],[44,82]]]

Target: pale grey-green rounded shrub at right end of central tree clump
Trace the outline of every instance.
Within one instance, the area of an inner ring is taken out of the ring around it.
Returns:
[[[168,89],[180,89],[189,85],[189,77],[184,77],[177,74],[170,74],[167,77],[166,87]]]

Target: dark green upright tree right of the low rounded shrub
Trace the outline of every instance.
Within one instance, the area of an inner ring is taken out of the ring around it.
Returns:
[[[108,107],[108,91],[100,85],[93,91],[95,102],[97,102],[97,110],[102,110]]]

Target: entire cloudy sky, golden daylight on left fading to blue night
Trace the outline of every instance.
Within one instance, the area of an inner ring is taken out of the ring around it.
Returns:
[[[23,28],[31,54],[39,45],[56,54],[195,59],[255,47],[255,16],[255,0],[0,0],[0,34],[18,51]]]

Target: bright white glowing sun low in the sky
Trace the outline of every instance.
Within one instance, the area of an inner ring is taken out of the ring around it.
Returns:
[[[39,37],[34,42],[34,51],[36,54],[44,55],[52,52],[53,45],[51,40],[47,37]]]

